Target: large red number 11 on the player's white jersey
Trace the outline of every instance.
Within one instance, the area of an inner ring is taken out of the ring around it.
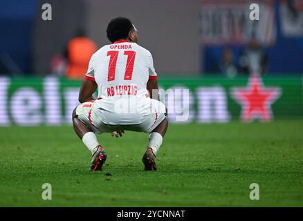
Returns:
[[[113,81],[115,80],[116,75],[116,64],[118,59],[118,51],[117,50],[110,50],[107,52],[107,56],[110,56],[109,58],[109,73],[107,74],[107,81]],[[131,77],[133,75],[134,70],[134,62],[136,57],[136,52],[132,50],[126,50],[124,52],[124,55],[127,55],[127,65],[125,68],[125,80],[131,80]]]

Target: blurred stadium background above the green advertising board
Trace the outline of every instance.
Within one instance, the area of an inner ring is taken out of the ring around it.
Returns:
[[[53,20],[44,21],[44,1],[5,1],[0,7],[1,30],[6,30],[0,35],[0,75],[81,79],[91,55],[109,44],[104,35],[108,21],[125,11],[162,77],[302,75],[303,0],[259,0],[260,21],[249,19],[249,0],[161,2],[52,1]],[[115,10],[101,15],[99,8]],[[140,8],[156,11],[157,19],[142,16]],[[161,35],[153,32],[156,28]]]

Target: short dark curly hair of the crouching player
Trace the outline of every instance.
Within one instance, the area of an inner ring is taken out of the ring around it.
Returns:
[[[107,38],[111,43],[118,39],[126,39],[129,35],[129,31],[133,29],[131,21],[124,17],[118,17],[112,19],[107,25]]]

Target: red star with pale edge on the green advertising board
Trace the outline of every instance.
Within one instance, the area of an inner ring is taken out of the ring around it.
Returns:
[[[252,75],[246,88],[234,87],[231,94],[241,105],[243,122],[251,122],[254,119],[268,122],[273,117],[271,105],[279,98],[281,89],[264,87],[261,77]]]

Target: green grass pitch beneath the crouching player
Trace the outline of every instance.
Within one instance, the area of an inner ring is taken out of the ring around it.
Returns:
[[[303,206],[302,120],[170,125],[156,172],[143,171],[147,134],[99,141],[109,157],[91,173],[71,126],[0,128],[0,206]]]

